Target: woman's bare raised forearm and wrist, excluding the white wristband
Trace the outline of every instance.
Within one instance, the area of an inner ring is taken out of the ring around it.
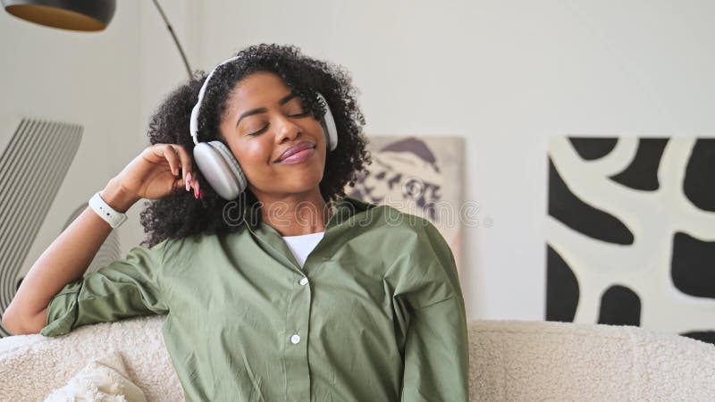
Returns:
[[[114,180],[110,180],[101,196],[122,213],[137,201],[127,197]],[[64,285],[82,278],[111,231],[107,222],[91,208],[86,208],[32,265],[4,311],[4,326],[15,334],[41,330],[46,322],[49,301]]]

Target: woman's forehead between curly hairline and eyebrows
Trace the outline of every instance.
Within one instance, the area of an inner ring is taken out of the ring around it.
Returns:
[[[289,93],[290,88],[278,74],[254,72],[236,83],[227,103],[235,113],[240,113],[243,110],[277,105]]]

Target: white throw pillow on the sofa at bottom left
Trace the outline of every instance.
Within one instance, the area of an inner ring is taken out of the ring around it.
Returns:
[[[144,392],[129,380],[122,355],[113,351],[87,364],[45,402],[147,402]]]

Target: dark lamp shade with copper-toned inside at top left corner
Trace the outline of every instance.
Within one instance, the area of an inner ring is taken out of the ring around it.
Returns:
[[[47,27],[102,30],[114,17],[115,0],[2,0],[5,11]]]

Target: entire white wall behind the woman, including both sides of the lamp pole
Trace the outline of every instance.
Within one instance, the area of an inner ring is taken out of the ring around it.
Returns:
[[[251,44],[296,44],[352,71],[368,134],[467,138],[465,195],[493,222],[465,232],[470,318],[543,319],[549,136],[715,131],[710,1],[163,3],[195,70]],[[0,46],[0,145],[24,115],[85,125],[77,179],[51,214],[137,155],[148,116],[187,78],[151,2],[121,2],[100,34],[0,13]],[[139,205],[129,214],[124,250],[143,238]],[[59,230],[43,226],[29,259]]]

